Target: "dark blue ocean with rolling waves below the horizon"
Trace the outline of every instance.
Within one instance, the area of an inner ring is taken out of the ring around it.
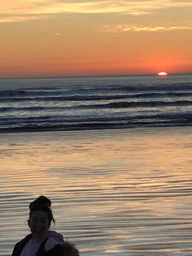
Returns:
[[[0,80],[0,132],[192,124],[192,74]]]

